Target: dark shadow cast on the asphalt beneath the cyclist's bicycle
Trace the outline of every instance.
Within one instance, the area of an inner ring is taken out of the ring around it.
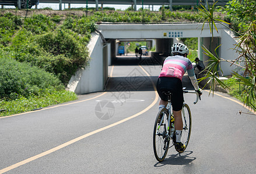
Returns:
[[[160,167],[164,165],[188,165],[192,161],[194,161],[195,157],[191,157],[190,155],[193,153],[193,151],[184,151],[184,153],[180,154],[173,154],[169,155],[169,158],[166,158],[162,162],[157,162],[154,166]]]

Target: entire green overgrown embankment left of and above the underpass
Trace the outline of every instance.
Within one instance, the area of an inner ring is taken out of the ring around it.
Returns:
[[[198,22],[198,12],[0,10],[0,116],[75,100],[65,86],[89,64],[86,45],[99,21]],[[28,14],[28,15],[26,15]]]

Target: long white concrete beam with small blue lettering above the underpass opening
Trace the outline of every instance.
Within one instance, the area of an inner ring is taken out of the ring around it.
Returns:
[[[216,24],[218,30],[225,28]],[[166,38],[190,38],[190,37],[211,37],[209,25],[201,26],[198,23],[180,24],[113,24],[101,23],[97,25],[104,38],[111,39],[166,39]],[[215,37],[220,37],[221,32],[213,30]]]

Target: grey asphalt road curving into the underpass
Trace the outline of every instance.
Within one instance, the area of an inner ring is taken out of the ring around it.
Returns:
[[[138,65],[139,64],[139,65]],[[236,99],[204,91],[192,112],[186,151],[159,163],[153,125],[160,66],[149,57],[118,57],[106,91],[0,118],[0,173],[255,173],[256,116]],[[184,86],[192,89],[188,77]]]

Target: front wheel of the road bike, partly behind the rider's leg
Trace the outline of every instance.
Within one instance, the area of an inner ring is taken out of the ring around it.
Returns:
[[[183,119],[183,132],[181,134],[181,143],[185,144],[185,149],[188,146],[190,141],[191,134],[191,112],[190,107],[187,104],[183,104],[182,110],[182,119]]]

